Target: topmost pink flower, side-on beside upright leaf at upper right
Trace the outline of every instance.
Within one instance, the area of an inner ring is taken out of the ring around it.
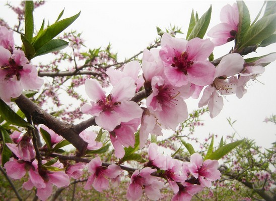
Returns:
[[[214,26],[208,36],[213,37],[212,42],[219,46],[235,39],[238,32],[239,10],[236,3],[233,6],[229,4],[221,10],[220,20],[222,23]]]

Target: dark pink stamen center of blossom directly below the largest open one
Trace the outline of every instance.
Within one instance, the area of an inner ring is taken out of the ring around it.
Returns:
[[[177,99],[175,98],[179,92],[176,94],[174,89],[171,89],[168,86],[159,86],[158,95],[156,96],[158,103],[161,103],[163,106],[175,106],[177,105]]]

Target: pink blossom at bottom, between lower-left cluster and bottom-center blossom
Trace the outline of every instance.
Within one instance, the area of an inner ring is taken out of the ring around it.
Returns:
[[[92,173],[85,184],[84,189],[89,190],[93,186],[97,191],[103,191],[108,188],[108,178],[114,179],[121,173],[120,166],[115,164],[109,165],[107,168],[102,166],[99,157],[92,159],[88,166],[88,172]]]

